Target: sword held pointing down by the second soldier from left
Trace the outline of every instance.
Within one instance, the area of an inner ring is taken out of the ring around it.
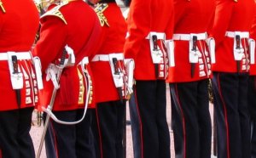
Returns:
[[[64,48],[64,51],[63,51],[63,53],[61,55],[61,62],[59,64],[61,69],[60,69],[60,71],[56,75],[56,79],[57,79],[58,83],[60,82],[61,72],[62,72],[62,69],[63,69],[63,66],[64,66],[66,55],[67,55],[67,50]],[[57,90],[58,90],[58,88],[54,87],[52,95],[51,95],[51,99],[50,99],[50,102],[49,102],[49,105],[47,106],[48,110],[52,110],[52,108],[53,108],[53,104],[55,103],[55,95],[57,93]],[[40,157],[42,149],[43,149],[45,134],[46,134],[46,131],[47,131],[48,126],[49,126],[49,118],[50,118],[50,116],[49,116],[49,114],[47,114],[45,122],[44,122],[44,131],[43,131],[42,138],[41,138],[41,141],[40,141],[40,144],[39,144],[39,148],[38,148],[37,158]]]

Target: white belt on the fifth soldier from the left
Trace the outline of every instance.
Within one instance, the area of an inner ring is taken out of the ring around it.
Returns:
[[[207,33],[190,33],[190,34],[173,34],[173,40],[190,41],[193,37],[197,37],[197,40],[206,40]]]

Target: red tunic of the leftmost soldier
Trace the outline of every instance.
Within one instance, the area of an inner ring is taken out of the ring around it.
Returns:
[[[2,0],[2,3],[6,12],[3,13],[3,9],[0,8],[0,55],[8,51],[17,54],[30,51],[39,25],[38,8],[32,0]],[[29,76],[26,79],[23,74],[20,108],[31,107],[36,104],[35,97],[38,97],[37,86],[32,83],[36,81],[32,77],[32,72],[34,72],[32,60],[19,60],[18,64],[20,69],[23,68]],[[0,76],[0,110],[18,109],[7,60],[0,59]]]

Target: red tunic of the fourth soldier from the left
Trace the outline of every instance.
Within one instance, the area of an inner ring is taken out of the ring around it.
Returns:
[[[154,64],[146,37],[150,31],[155,31],[166,33],[166,39],[172,38],[173,3],[172,0],[133,1],[136,2],[131,3],[127,19],[129,36],[125,41],[125,58],[135,60],[136,80],[155,80]]]

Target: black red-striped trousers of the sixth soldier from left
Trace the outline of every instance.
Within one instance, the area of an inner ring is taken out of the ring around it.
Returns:
[[[250,157],[247,73],[213,73],[218,158]]]

